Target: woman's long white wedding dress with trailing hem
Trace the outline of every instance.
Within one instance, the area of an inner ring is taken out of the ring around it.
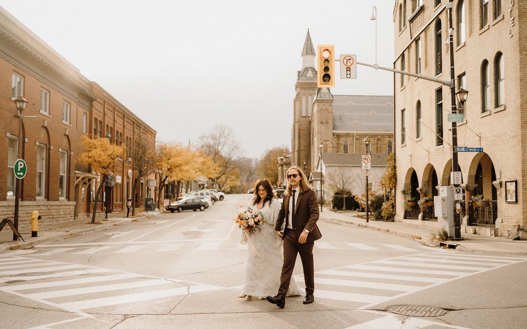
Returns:
[[[275,222],[280,211],[280,202],[273,198],[271,204],[258,209],[264,218],[264,226],[249,236],[250,242],[259,255],[254,256],[247,246],[247,261],[241,294],[257,297],[275,296],[280,287],[280,275],[284,264],[284,248],[282,240],[275,233]],[[253,205],[256,210],[257,206]],[[303,294],[300,287],[291,276],[287,296]]]

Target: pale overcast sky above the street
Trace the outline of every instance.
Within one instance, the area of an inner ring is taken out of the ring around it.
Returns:
[[[316,49],[393,67],[392,0],[2,0],[48,45],[157,131],[198,143],[231,126],[248,157],[291,147],[307,29]],[[338,70],[338,65],[336,66]],[[338,72],[338,71],[337,71]],[[393,75],[359,66],[334,95],[393,95]]]

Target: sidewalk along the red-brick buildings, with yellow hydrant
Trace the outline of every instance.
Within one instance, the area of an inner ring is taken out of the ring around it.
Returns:
[[[60,222],[60,223],[46,223],[40,221],[38,223],[38,236],[31,237],[31,227],[24,227],[18,230],[18,233],[22,235],[24,241],[18,240],[13,241],[13,231],[8,225],[4,226],[0,231],[0,252],[5,250],[12,250],[18,248],[31,247],[38,243],[44,243],[49,241],[59,240],[61,238],[81,234],[85,232],[103,231],[112,226],[120,225],[121,223],[137,221],[144,218],[150,218],[159,215],[161,211],[150,211],[141,212],[135,215],[135,217],[109,217],[106,220],[97,218],[96,222],[99,224],[91,224],[91,217],[77,218],[74,221]]]

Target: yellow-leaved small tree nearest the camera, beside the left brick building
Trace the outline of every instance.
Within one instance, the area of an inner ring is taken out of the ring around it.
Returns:
[[[106,180],[108,180],[108,177],[112,175],[118,165],[118,158],[123,158],[124,145],[111,144],[108,138],[90,139],[86,136],[82,136],[81,145],[84,148],[84,152],[77,157],[77,161],[89,165],[92,172],[101,175],[100,184],[95,194],[95,203],[93,204],[92,224],[94,224],[97,195],[101,195]]]

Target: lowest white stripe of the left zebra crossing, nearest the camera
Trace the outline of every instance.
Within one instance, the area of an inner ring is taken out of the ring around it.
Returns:
[[[212,286],[212,285],[194,285],[190,287],[179,287],[179,288],[149,291],[149,292],[136,293],[136,294],[96,298],[93,300],[77,301],[77,302],[63,303],[63,304],[57,304],[57,305],[60,307],[69,309],[69,310],[86,310],[87,308],[150,301],[150,300],[155,300],[155,299],[164,298],[164,297],[186,295],[189,292],[198,293],[198,292],[212,291],[212,290],[218,290],[218,289],[222,289],[222,287]]]

